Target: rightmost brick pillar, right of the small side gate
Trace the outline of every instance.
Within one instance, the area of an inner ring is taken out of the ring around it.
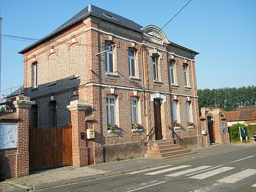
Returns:
[[[224,144],[224,135],[222,133],[222,124],[221,124],[221,110],[214,109],[212,110],[212,116],[214,117],[214,133],[215,133],[215,142]]]

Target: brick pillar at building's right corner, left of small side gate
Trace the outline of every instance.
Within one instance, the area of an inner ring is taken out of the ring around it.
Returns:
[[[210,146],[210,136],[209,136],[209,129],[208,129],[208,121],[207,121],[207,113],[209,112],[208,108],[202,108],[200,117],[200,128],[201,128],[201,138],[203,142],[203,146]],[[206,135],[202,135],[202,131],[206,132]]]

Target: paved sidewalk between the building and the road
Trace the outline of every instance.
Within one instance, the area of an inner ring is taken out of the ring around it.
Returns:
[[[251,141],[249,143],[194,148],[192,151],[197,152],[197,154],[165,160],[139,158],[89,165],[86,167],[66,166],[55,169],[39,170],[30,173],[31,175],[29,176],[12,178],[0,182],[0,191],[27,191],[65,185],[69,183],[76,183],[96,178],[118,175],[126,172],[132,172],[138,169],[145,169],[149,167],[225,153],[255,145],[256,142]]]

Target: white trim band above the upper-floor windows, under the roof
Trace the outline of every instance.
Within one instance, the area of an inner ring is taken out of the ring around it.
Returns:
[[[177,55],[177,54],[175,54],[175,53],[168,52],[168,51],[163,50],[163,49],[158,49],[158,48],[153,47],[153,46],[150,46],[150,45],[148,45],[148,44],[142,44],[141,42],[138,42],[138,41],[135,41],[135,40],[132,40],[132,39],[127,39],[127,38],[121,37],[121,36],[119,36],[119,35],[115,35],[115,34],[113,34],[113,33],[108,33],[108,32],[99,30],[99,29],[94,28],[94,27],[86,28],[84,31],[89,31],[89,30],[94,30],[94,31],[97,31],[97,32],[100,32],[100,33],[103,33],[103,34],[106,34],[106,35],[112,35],[112,36],[115,36],[115,37],[120,38],[120,39],[122,39],[122,40],[130,41],[130,42],[135,42],[136,44],[138,44],[138,45],[140,45],[140,46],[144,45],[144,46],[147,46],[147,47],[152,48],[152,49],[157,49],[157,50],[159,50],[159,51],[162,51],[162,52],[164,52],[164,53],[168,53],[168,54],[170,54],[170,55],[175,55],[176,57],[179,57],[179,58],[182,58],[182,59],[185,59],[185,58],[186,58],[186,57]],[[188,58],[186,58],[186,59],[189,60],[189,61],[195,62],[195,60],[193,60],[193,59],[188,59]]]

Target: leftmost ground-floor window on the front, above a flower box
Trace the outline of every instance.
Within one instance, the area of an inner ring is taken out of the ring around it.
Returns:
[[[116,124],[116,98],[114,95],[108,95],[106,97],[106,112],[108,115],[108,125]]]

